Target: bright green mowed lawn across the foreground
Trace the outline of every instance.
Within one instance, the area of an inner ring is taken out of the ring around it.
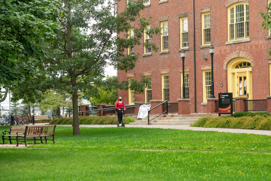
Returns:
[[[0,127],[0,131],[8,127]],[[56,144],[1,148],[5,180],[271,180],[271,137],[56,127]],[[7,142],[8,143],[8,142]]]

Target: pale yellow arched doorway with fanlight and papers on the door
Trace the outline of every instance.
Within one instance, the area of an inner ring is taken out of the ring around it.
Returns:
[[[252,99],[252,68],[244,57],[232,59],[228,64],[228,91],[233,97]]]

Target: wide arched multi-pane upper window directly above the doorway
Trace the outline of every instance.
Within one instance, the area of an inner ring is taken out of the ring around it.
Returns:
[[[235,3],[228,8],[229,41],[249,38],[248,3]]]

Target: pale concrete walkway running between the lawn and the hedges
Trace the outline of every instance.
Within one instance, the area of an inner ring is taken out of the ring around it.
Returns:
[[[42,125],[47,123],[36,123],[36,125]],[[30,124],[31,125],[31,124]],[[71,125],[57,125],[57,126],[71,126]],[[80,125],[80,127],[89,128],[107,128],[117,127],[117,125]],[[217,132],[231,132],[231,133],[247,133],[257,135],[271,136],[271,131],[254,130],[254,129],[230,129],[230,128],[202,128],[202,127],[190,127],[190,125],[125,125],[126,128],[162,128],[162,129],[186,129],[193,131],[217,131]],[[122,129],[123,127],[120,127]]]

